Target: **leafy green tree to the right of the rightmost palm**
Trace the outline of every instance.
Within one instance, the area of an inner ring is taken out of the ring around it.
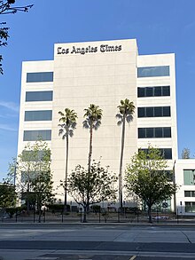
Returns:
[[[177,189],[169,182],[165,172],[167,167],[160,150],[149,146],[147,154],[139,151],[133,155],[126,170],[127,189],[146,203],[150,223],[152,206],[170,199]]]

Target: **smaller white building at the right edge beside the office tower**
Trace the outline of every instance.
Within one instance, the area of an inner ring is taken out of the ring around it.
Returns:
[[[175,161],[175,184],[179,185],[175,195],[176,214],[195,215],[195,159]]]

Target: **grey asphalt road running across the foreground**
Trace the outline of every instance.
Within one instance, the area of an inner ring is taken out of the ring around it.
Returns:
[[[195,226],[0,225],[0,256],[4,260],[195,259]]]

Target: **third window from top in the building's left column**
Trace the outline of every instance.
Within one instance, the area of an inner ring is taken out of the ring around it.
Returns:
[[[25,111],[25,121],[51,121],[51,110]]]

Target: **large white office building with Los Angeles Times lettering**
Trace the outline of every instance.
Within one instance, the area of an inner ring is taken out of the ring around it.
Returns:
[[[135,39],[57,43],[53,60],[23,62],[18,154],[28,142],[42,137],[51,147],[58,185],[65,177],[66,158],[66,143],[58,136],[58,111],[68,107],[78,114],[69,144],[70,172],[78,163],[87,165],[90,135],[82,127],[83,110],[95,104],[103,110],[103,118],[94,132],[92,158],[101,158],[118,173],[121,127],[115,115],[125,98],[134,102],[136,113],[126,129],[124,169],[130,156],[149,144],[161,149],[173,169],[178,159],[175,55],[139,55]],[[183,200],[184,194],[179,201]]]

